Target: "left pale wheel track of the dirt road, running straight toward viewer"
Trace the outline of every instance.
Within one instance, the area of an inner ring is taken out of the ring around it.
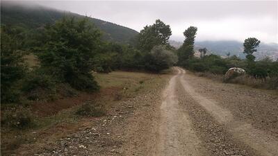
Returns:
[[[160,139],[154,155],[201,155],[200,141],[191,128],[188,114],[179,107],[176,85],[181,72],[173,76],[163,92]]]

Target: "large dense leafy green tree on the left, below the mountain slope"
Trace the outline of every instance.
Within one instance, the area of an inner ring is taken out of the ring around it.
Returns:
[[[44,45],[37,53],[40,65],[49,75],[76,89],[98,89],[90,72],[100,40],[100,31],[88,24],[88,19],[64,17],[47,26]]]

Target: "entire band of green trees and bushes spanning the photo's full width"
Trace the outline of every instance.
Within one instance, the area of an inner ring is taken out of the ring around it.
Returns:
[[[260,43],[256,38],[245,40],[246,60],[206,55],[206,49],[199,49],[201,57],[196,58],[196,34],[196,27],[187,28],[183,45],[174,49],[168,42],[172,35],[170,26],[159,19],[145,26],[131,44],[104,42],[101,31],[86,18],[65,17],[35,31],[1,26],[1,103],[17,103],[22,96],[35,100],[42,95],[54,95],[61,84],[86,92],[95,91],[99,85],[93,71],[159,72],[177,64],[215,74],[223,74],[230,67],[241,67],[256,78],[278,76],[277,61],[254,61],[252,53]],[[26,65],[23,56],[28,53],[38,58],[36,67]]]

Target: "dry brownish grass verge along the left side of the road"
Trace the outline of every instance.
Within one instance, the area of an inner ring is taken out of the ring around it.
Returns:
[[[76,132],[85,123],[92,124],[94,118],[90,116],[104,115],[109,112],[112,105],[117,105],[118,101],[124,101],[126,98],[132,98],[164,84],[170,77],[170,74],[167,74],[170,71],[164,72],[165,74],[127,71],[94,73],[101,86],[99,92],[93,94],[79,92],[74,97],[29,105],[35,126],[19,130],[2,125],[2,155],[39,148],[38,146],[43,146],[46,142],[54,142],[69,133]],[[85,116],[76,114],[76,112],[83,114],[88,106],[92,108],[89,115],[88,112],[85,112]]]

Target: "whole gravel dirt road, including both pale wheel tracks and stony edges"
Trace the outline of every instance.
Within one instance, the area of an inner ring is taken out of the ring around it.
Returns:
[[[179,67],[168,78],[33,154],[278,155],[277,92],[220,83]]]

